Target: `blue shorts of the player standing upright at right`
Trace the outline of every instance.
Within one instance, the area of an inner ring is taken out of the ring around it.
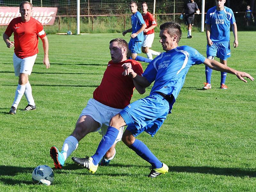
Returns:
[[[222,60],[227,60],[231,56],[230,52],[230,45],[229,42],[227,43],[214,43],[209,46],[206,45],[206,55],[207,57],[210,56],[217,56]]]

